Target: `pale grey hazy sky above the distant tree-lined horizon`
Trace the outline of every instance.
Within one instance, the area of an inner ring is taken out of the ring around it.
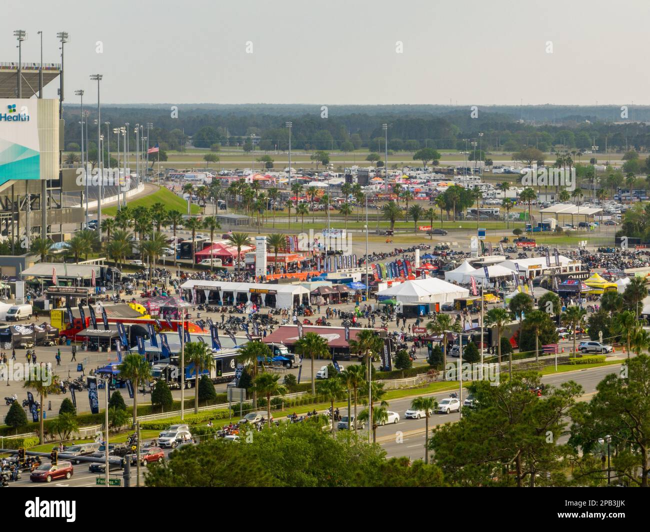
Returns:
[[[60,62],[68,31],[67,103],[79,88],[96,101],[88,75],[102,73],[105,103],[650,104],[647,0],[4,0],[3,13],[2,61],[25,29],[23,61],[38,62],[43,30],[44,61]]]

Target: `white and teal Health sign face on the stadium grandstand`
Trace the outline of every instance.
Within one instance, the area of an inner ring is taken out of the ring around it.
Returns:
[[[38,102],[0,98],[0,185],[40,179]]]

